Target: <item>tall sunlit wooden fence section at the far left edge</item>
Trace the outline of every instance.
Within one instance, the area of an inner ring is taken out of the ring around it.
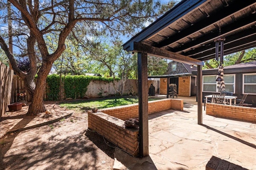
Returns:
[[[6,111],[7,105],[10,104],[13,74],[13,70],[0,62],[0,120]]]

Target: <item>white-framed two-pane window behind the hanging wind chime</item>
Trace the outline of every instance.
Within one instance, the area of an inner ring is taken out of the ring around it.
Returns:
[[[218,92],[216,78],[217,75],[203,76],[203,92]],[[224,74],[225,91],[235,92],[235,75]]]

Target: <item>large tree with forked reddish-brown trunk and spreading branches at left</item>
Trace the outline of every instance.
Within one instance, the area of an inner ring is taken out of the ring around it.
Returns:
[[[8,0],[9,2],[10,11],[7,12],[7,0],[1,1],[0,20],[1,23],[11,21],[13,44],[18,47],[18,55],[29,58],[29,72],[22,72],[18,68],[14,54],[6,43],[11,35],[5,30],[0,30],[0,46],[32,95],[28,115],[46,111],[43,104],[46,78],[54,61],[65,51],[69,35],[84,46],[87,46],[90,37],[99,35],[134,35],[146,26],[145,23],[151,23],[172,7],[154,0]],[[47,41],[48,36],[52,37],[54,46]],[[35,83],[36,74],[38,78]]]

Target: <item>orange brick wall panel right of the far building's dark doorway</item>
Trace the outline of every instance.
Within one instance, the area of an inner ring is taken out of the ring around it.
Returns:
[[[190,96],[190,76],[179,77],[179,96]]]

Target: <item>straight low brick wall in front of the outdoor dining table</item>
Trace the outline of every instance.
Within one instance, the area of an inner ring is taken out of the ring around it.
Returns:
[[[206,114],[231,119],[256,122],[256,108],[206,103]]]

